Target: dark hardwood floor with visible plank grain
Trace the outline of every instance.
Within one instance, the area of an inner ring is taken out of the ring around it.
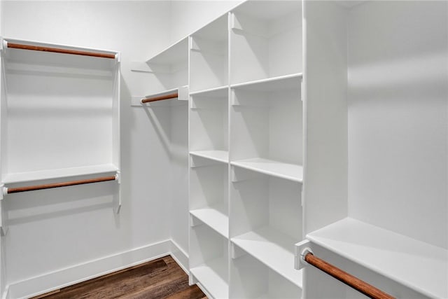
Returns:
[[[171,256],[165,256],[31,299],[41,298],[202,299],[207,297],[197,286],[188,286],[188,275]]]

